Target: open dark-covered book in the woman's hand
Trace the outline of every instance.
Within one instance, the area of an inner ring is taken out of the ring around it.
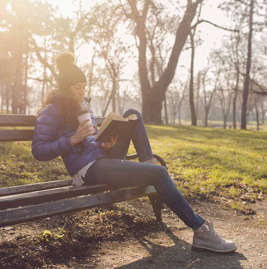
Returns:
[[[123,118],[114,112],[108,113],[103,123],[100,126],[96,136],[96,142],[110,142],[110,136],[118,134],[119,137],[127,136],[136,126],[139,120],[136,114],[131,114],[127,118]]]

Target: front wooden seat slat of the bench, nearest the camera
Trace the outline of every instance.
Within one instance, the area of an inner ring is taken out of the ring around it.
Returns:
[[[128,188],[0,211],[0,227],[156,194],[153,186]]]

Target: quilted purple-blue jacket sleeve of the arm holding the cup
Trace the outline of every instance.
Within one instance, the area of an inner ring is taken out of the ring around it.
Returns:
[[[58,122],[46,106],[35,122],[32,154],[36,160],[48,161],[65,155],[71,148],[70,137],[57,139]]]

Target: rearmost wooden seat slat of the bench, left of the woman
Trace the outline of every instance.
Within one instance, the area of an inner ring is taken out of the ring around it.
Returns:
[[[73,181],[72,179],[62,179],[62,180],[46,181],[41,183],[0,188],[0,196],[72,186],[72,181]]]

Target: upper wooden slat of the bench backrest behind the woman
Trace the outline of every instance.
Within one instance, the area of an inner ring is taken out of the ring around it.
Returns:
[[[0,127],[34,126],[37,115],[0,114]],[[96,116],[97,126],[100,126],[105,117]]]

